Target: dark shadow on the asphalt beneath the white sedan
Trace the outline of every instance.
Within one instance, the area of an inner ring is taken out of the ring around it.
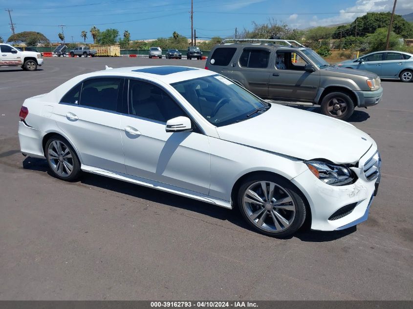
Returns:
[[[23,168],[47,172],[51,176],[51,174],[48,171],[47,161],[44,159],[27,157],[23,161]],[[99,187],[112,192],[129,195],[137,199],[143,199],[151,201],[153,203],[163,204],[165,205],[165,207],[172,206],[175,208],[197,212],[203,215],[210,216],[212,218],[216,218],[218,220],[231,222],[236,226],[256,232],[252,227],[250,227],[245,222],[244,218],[242,218],[241,214],[237,209],[226,209],[223,207],[199,202],[190,198],[174,195],[172,193],[167,193],[140,185],[134,185],[120,180],[111,179],[109,177],[94,175],[90,173],[83,173],[80,177],[80,180],[78,180],[77,182],[80,182],[85,185]],[[284,239],[298,238],[303,242],[315,243],[329,242],[345,237],[356,230],[356,227],[351,227],[342,231],[333,232],[312,231],[309,229],[308,220],[306,220],[306,222],[304,222],[303,227],[296,234]],[[272,238],[270,236],[268,237]]]

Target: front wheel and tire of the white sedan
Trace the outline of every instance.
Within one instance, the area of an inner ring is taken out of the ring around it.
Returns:
[[[247,193],[251,191],[258,198]],[[277,201],[282,202],[277,204]],[[306,216],[302,193],[289,181],[269,173],[252,175],[246,179],[239,187],[237,203],[251,227],[274,237],[294,234],[303,225]]]

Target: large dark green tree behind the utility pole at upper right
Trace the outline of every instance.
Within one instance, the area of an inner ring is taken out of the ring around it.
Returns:
[[[343,38],[348,36],[366,37],[374,33],[378,28],[389,27],[390,12],[385,13],[367,13],[361,17],[357,17],[352,23],[346,26],[339,26],[333,34],[333,39],[340,39],[341,30],[343,30]],[[395,34],[407,39],[413,37],[413,25],[406,21],[401,15],[394,15],[393,31]]]

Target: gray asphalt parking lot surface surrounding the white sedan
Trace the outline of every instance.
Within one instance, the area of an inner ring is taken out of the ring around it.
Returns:
[[[24,99],[106,64],[205,61],[0,68],[0,300],[413,300],[413,83],[384,81],[383,101],[350,118],[383,160],[368,221],[280,240],[250,230],[238,211],[92,174],[59,181],[45,160],[22,156]]]

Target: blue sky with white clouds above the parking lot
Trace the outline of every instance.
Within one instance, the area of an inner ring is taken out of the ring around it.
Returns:
[[[235,28],[251,29],[252,21],[269,18],[292,27],[329,25],[353,21],[366,12],[391,11],[393,0],[194,0],[194,28],[198,37],[233,37]],[[0,0],[0,36],[11,35],[10,8],[16,31],[42,32],[59,41],[60,24],[65,24],[66,41],[83,41],[82,30],[96,25],[100,30],[129,30],[131,39],[170,37],[174,31],[191,37],[191,0]],[[396,13],[413,12],[413,0],[398,0]],[[91,42],[88,33],[87,42]]]

